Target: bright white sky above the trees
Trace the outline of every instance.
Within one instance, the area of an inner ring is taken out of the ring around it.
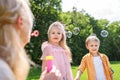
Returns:
[[[120,0],[62,0],[62,10],[78,11],[84,9],[95,19],[107,19],[110,22],[120,21]]]

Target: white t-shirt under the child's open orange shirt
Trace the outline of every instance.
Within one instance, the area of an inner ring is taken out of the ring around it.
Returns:
[[[93,57],[93,63],[96,71],[96,80],[106,80],[100,56]]]

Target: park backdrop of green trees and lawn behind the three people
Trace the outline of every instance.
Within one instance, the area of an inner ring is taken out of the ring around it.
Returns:
[[[91,33],[95,33],[101,41],[99,51],[109,57],[117,76],[120,72],[120,20],[111,22],[104,18],[95,19],[84,9],[79,11],[75,6],[72,11],[63,12],[61,2],[61,0],[31,0],[31,9],[35,17],[33,31],[37,30],[39,35],[32,36],[30,43],[25,46],[28,56],[35,63],[35,66],[31,65],[28,80],[39,79],[41,44],[47,40],[48,27],[54,21],[60,21],[65,25],[67,44],[72,52],[71,65],[74,75],[82,57],[88,52],[85,48],[85,39]],[[120,79],[116,77],[115,80]]]

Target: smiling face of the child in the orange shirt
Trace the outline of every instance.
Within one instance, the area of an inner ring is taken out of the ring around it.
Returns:
[[[91,54],[96,55],[99,50],[99,42],[89,41],[88,44],[86,45],[86,47]]]

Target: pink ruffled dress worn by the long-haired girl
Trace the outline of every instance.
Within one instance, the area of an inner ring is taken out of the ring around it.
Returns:
[[[48,55],[53,56],[53,65],[60,71],[61,80],[73,80],[70,61],[66,56],[66,51],[60,47],[50,43],[42,45],[42,57],[41,60],[45,60]]]

